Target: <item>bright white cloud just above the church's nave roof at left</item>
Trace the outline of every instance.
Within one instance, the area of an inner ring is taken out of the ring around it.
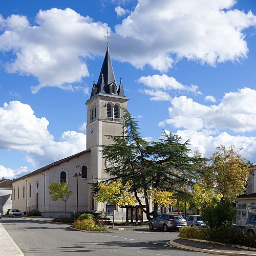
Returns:
[[[63,132],[54,141],[47,127],[49,121],[37,118],[30,105],[19,101],[5,103],[0,108],[0,149],[25,152],[35,168],[86,150],[86,135]]]

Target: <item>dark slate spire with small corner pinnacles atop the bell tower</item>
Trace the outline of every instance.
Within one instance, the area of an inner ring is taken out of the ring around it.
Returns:
[[[119,89],[117,90],[116,78],[109,54],[109,47],[106,48],[106,54],[99,74],[98,82],[93,84],[91,98],[98,93],[124,96],[121,82]]]

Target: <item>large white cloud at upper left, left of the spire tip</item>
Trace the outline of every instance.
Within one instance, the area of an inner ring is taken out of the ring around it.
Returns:
[[[66,83],[89,75],[84,58],[102,54],[106,24],[96,23],[67,8],[39,11],[31,26],[25,16],[0,19],[5,32],[0,35],[0,50],[11,51],[15,60],[7,63],[9,73],[33,75],[39,84],[33,93],[47,86],[67,89]]]

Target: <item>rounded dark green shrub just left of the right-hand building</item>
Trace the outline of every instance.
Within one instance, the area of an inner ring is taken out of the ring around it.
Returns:
[[[231,226],[236,222],[236,207],[228,200],[221,200],[216,206],[206,206],[202,216],[207,226],[212,229]]]

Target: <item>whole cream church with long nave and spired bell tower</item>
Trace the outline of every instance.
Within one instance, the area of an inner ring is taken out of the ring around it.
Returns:
[[[121,79],[117,86],[107,47],[99,79],[97,83],[93,82],[91,96],[86,102],[86,150],[14,180],[12,208],[24,213],[38,209],[43,217],[49,218],[63,216],[64,202],[52,202],[48,187],[52,183],[64,181],[72,191],[66,202],[67,213],[105,210],[105,203],[94,200],[90,184],[109,178],[104,169],[112,163],[102,157],[102,145],[111,143],[106,135],[122,134],[123,109],[126,109],[128,100],[129,98],[124,96]]]

